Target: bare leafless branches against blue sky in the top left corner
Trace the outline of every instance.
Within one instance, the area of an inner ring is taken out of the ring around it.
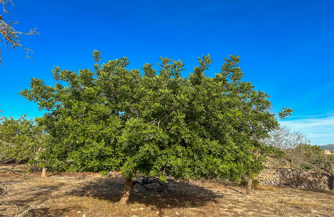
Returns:
[[[16,49],[17,47],[23,48],[27,56],[26,58],[31,58],[29,57],[29,52],[32,52],[30,48],[26,48],[21,44],[21,36],[22,35],[38,35],[39,32],[37,32],[37,28],[30,29],[29,32],[20,32],[17,31],[13,26],[18,24],[18,21],[12,21],[12,20],[5,20],[5,15],[6,14],[11,14],[6,10],[6,6],[15,6],[12,2],[12,0],[0,0],[0,4],[3,6],[3,15],[0,14],[0,41],[4,43],[5,48],[9,49],[10,47]],[[3,64],[3,59],[1,57],[1,48],[0,48],[0,64]]]

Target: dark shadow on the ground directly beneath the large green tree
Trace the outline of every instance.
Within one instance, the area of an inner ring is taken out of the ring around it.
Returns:
[[[120,200],[124,178],[121,176],[82,183],[76,190],[68,192],[74,196],[91,196],[99,200],[117,203]],[[169,182],[167,188],[161,191],[160,185],[153,183],[145,185],[134,184],[129,203],[142,203],[146,206],[154,206],[157,209],[173,207],[199,207],[208,202],[223,197],[210,189],[191,184],[189,182]]]

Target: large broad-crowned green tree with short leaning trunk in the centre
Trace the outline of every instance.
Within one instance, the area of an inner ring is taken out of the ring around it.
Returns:
[[[47,112],[43,167],[111,171],[125,176],[121,203],[136,174],[178,180],[253,177],[270,147],[261,139],[278,127],[269,95],[242,81],[239,57],[229,56],[206,77],[210,56],[187,78],[182,61],[160,58],[156,72],[128,70],[127,58],[105,64],[95,50],[94,71],[52,70],[54,84],[32,78],[20,92]],[[281,118],[290,113],[283,109]]]

